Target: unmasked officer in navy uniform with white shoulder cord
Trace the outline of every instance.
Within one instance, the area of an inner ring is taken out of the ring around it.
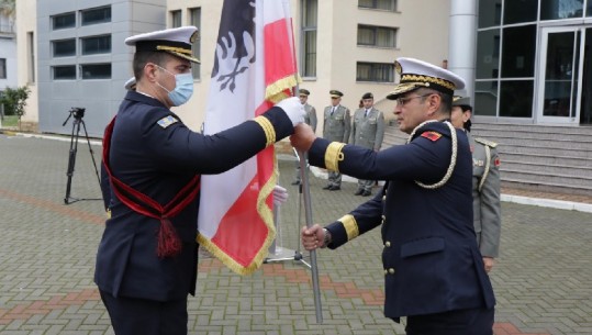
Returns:
[[[407,316],[407,335],[492,335],[495,299],[472,224],[472,161],[467,135],[450,124],[455,89],[465,82],[432,64],[399,58],[399,127],[407,144],[375,152],[316,138],[297,126],[292,145],[311,165],[386,180],[373,199],[321,227],[302,228],[305,249],[337,248],[380,227],[384,315]]]

